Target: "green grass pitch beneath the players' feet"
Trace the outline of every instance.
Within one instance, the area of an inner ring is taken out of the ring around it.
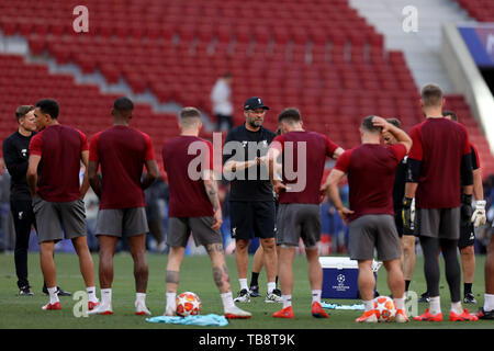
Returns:
[[[98,256],[93,256],[94,269],[98,272]],[[166,254],[147,254],[149,264],[149,282],[147,290],[147,306],[154,316],[162,315],[165,310],[165,270]],[[465,306],[471,312],[483,305],[484,294],[484,259],[476,257],[476,269],[473,291],[478,305]],[[63,288],[76,292],[85,290],[82,278],[79,273],[77,256],[56,253],[57,283]],[[237,271],[233,256],[227,257],[227,265],[231,273],[232,290],[234,296],[238,291]],[[361,310],[329,310],[328,319],[316,319],[311,316],[311,291],[307,279],[307,263],[303,256],[296,256],[294,261],[295,285],[293,291],[294,319],[284,320],[272,318],[273,312],[281,308],[281,304],[266,304],[263,297],[251,298],[249,304],[239,304],[242,308],[252,313],[252,318],[247,320],[231,320],[229,325],[216,329],[451,329],[473,328],[494,329],[494,321],[480,320],[476,322],[450,322],[448,314],[450,309],[449,290],[444,276],[444,263],[441,262],[441,302],[445,320],[442,322],[411,321],[405,325],[375,324],[360,325],[355,318]],[[251,257],[249,258],[250,280]],[[42,273],[38,263],[38,253],[30,252],[29,258],[30,281],[34,296],[18,296],[14,260],[12,253],[0,254],[0,329],[186,329],[204,327],[191,327],[183,325],[149,324],[145,317],[134,315],[135,286],[132,258],[127,253],[115,254],[114,282],[113,282],[113,312],[112,316],[89,316],[76,318],[72,308],[76,301],[72,297],[60,297],[61,310],[44,312],[41,307],[47,303],[48,297],[41,292],[43,285]],[[266,273],[262,271],[259,278],[261,294],[266,294]],[[99,283],[97,274],[98,296]],[[423,260],[417,258],[417,265],[411,290],[419,295],[426,290]],[[202,314],[222,314],[220,293],[213,283],[211,263],[207,256],[188,256],[184,258],[180,274],[179,292],[192,291],[202,299]],[[381,295],[388,295],[386,273],[381,268],[378,274],[378,291]],[[327,303],[353,304],[359,301],[350,299],[324,299]],[[418,313],[424,313],[428,304],[418,304]]]

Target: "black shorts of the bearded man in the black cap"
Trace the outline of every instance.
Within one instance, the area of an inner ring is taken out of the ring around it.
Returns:
[[[234,239],[268,239],[276,236],[274,201],[231,201],[229,217]]]

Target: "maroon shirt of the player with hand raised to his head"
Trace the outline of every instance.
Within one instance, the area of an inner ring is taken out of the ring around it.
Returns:
[[[362,144],[338,157],[335,169],[347,173],[350,210],[355,211],[349,216],[350,222],[371,214],[394,216],[394,177],[405,155],[403,144]]]

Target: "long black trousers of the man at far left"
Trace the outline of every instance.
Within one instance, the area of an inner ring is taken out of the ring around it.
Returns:
[[[18,286],[21,288],[30,285],[27,281],[27,248],[31,228],[32,226],[36,227],[36,219],[31,200],[11,200],[10,211],[15,227],[15,274],[18,275]]]

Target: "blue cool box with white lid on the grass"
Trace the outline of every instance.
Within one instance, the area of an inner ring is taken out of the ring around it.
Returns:
[[[350,260],[349,257],[319,257],[319,263],[323,268],[322,298],[360,298],[357,283],[359,267],[356,260]],[[375,283],[382,262],[372,262]]]

